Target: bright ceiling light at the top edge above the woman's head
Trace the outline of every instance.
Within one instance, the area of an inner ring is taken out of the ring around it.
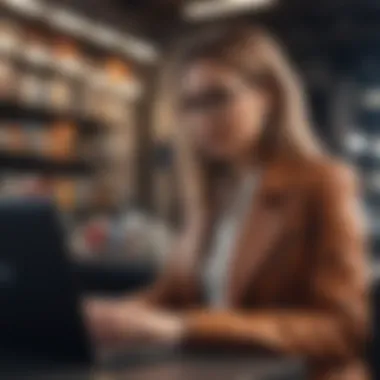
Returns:
[[[189,21],[223,17],[249,10],[266,8],[276,0],[208,0],[195,1],[183,7],[183,16]]]

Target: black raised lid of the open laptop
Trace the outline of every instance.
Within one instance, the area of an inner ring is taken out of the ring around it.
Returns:
[[[94,360],[61,227],[46,200],[0,201],[1,368]]]

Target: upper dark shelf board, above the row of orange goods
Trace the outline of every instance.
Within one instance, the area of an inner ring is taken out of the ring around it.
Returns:
[[[105,130],[106,127],[101,123],[76,114],[75,112],[46,109],[29,105],[21,105],[16,101],[0,99],[0,118],[10,121],[45,122],[52,123],[58,120],[68,120],[78,126],[83,133],[94,133]]]

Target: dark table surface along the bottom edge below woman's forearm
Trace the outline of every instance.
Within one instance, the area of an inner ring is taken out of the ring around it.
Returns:
[[[303,379],[296,360],[258,358],[177,358],[151,364],[87,370],[55,370],[6,375],[7,380],[267,380]]]

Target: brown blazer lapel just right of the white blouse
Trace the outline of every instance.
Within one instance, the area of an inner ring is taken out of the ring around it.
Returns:
[[[284,231],[283,197],[271,176],[263,173],[251,210],[238,236],[228,280],[228,306],[241,303],[244,291],[268,260]],[[275,178],[276,181],[276,178]]]

